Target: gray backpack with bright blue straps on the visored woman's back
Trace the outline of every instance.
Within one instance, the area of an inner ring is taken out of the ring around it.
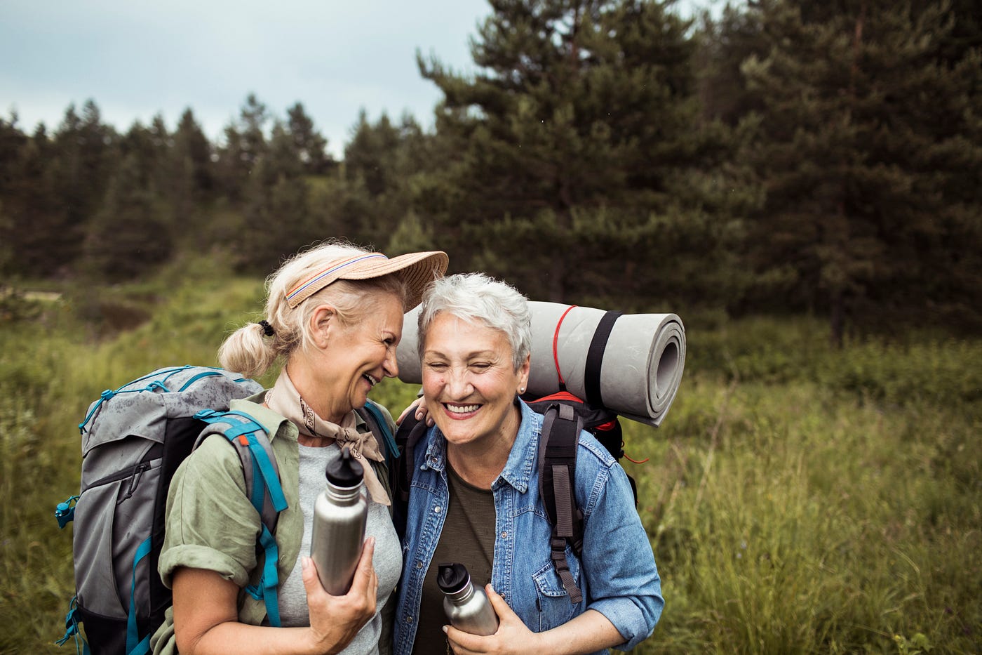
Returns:
[[[222,369],[159,369],[93,402],[82,431],[82,489],[60,504],[61,527],[75,520],[76,595],[65,620],[64,643],[84,627],[85,652],[139,655],[163,623],[171,592],[157,574],[164,539],[167,491],[178,465],[205,437],[223,434],[243,462],[246,490],[262,516],[256,548],[266,551],[259,585],[246,590],[266,603],[279,625],[276,543],[279,511],[286,508],[269,436],[233,398],[262,387]],[[271,547],[271,550],[270,550]]]

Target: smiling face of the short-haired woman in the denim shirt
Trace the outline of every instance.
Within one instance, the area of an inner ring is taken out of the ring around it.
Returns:
[[[447,441],[482,449],[511,448],[520,413],[514,405],[528,381],[528,359],[518,371],[504,332],[440,313],[426,331],[423,394],[429,415]]]

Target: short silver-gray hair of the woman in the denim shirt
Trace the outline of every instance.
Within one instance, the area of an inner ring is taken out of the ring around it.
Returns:
[[[426,331],[441,312],[504,332],[512,346],[512,363],[516,371],[532,350],[532,314],[528,299],[507,282],[480,272],[434,280],[423,294],[419,310],[420,359]]]

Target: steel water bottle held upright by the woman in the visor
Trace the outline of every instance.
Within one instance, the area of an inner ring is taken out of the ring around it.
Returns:
[[[310,558],[327,593],[343,596],[352,587],[365,540],[368,499],[364,469],[348,447],[327,466],[327,486],[313,506]]]

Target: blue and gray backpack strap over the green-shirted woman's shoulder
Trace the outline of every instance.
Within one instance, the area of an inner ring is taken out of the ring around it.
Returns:
[[[276,517],[287,508],[287,499],[280,485],[276,457],[273,455],[269,435],[259,423],[245,412],[216,412],[205,409],[194,415],[205,423],[215,426],[239,453],[246,476],[246,493],[249,503],[255,507],[262,519],[259,534],[259,547],[265,554],[262,577],[257,585],[249,585],[246,591],[256,600],[266,605],[269,624],[280,626],[279,573],[276,569],[279,549],[273,532],[276,530]],[[221,428],[222,425],[227,427]],[[203,436],[213,434],[206,431]],[[199,438],[200,439],[200,438]]]

